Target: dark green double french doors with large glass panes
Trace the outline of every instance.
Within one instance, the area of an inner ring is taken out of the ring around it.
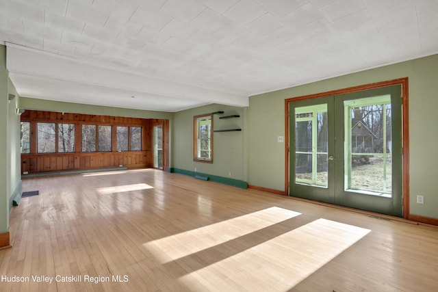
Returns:
[[[402,216],[401,85],[289,103],[289,195]]]

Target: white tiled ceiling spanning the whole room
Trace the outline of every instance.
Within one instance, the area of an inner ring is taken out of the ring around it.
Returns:
[[[438,53],[437,0],[0,0],[18,94],[157,111]],[[133,96],[133,97],[132,97]]]

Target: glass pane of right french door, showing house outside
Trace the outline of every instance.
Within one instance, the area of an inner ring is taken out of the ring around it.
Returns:
[[[344,102],[345,189],[391,197],[391,97]]]

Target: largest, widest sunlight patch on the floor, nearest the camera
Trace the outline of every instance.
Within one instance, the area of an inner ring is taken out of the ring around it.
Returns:
[[[179,280],[187,287],[201,282],[209,291],[289,291],[370,231],[318,219]]]

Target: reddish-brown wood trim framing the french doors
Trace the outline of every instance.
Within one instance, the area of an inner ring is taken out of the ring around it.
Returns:
[[[346,94],[370,90],[374,88],[383,88],[392,85],[402,85],[402,156],[403,156],[403,218],[409,219],[409,78],[399,78],[364,85],[357,85],[350,88],[331,90],[328,92],[319,92],[305,96],[296,96],[285,99],[285,194],[289,194],[289,103],[293,101],[302,101],[305,99],[319,98],[324,96]]]

